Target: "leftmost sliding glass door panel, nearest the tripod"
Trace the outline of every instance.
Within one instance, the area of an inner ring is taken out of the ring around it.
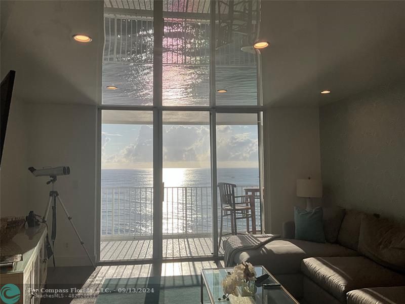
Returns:
[[[150,259],[152,112],[103,110],[101,132],[100,259]]]

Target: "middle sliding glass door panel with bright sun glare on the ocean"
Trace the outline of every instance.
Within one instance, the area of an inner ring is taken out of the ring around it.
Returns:
[[[210,112],[163,112],[163,257],[210,256]]]

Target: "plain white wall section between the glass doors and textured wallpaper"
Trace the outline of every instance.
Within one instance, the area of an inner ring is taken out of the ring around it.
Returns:
[[[266,233],[280,234],[294,206],[305,207],[296,180],[321,176],[318,108],[268,108],[263,134]]]

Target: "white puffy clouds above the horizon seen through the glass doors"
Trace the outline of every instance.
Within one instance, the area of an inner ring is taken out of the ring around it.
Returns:
[[[217,159],[219,162],[257,162],[258,140],[252,133],[235,133],[231,126],[217,128]],[[118,153],[106,155],[105,146],[110,141],[102,134],[103,163],[151,163],[153,161],[153,129],[143,125],[134,143],[126,145]],[[210,162],[209,126],[163,127],[163,157],[166,163],[184,162],[207,164]]]

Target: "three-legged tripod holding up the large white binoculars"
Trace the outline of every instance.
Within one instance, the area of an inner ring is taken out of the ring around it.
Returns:
[[[43,216],[43,218],[42,218],[42,221],[43,221],[44,223],[46,223],[46,222],[47,222],[47,218],[48,218],[48,214],[49,214],[49,210],[50,210],[51,205],[52,205],[52,233],[51,233],[52,247],[54,248],[54,251],[55,251],[55,240],[56,240],[56,202],[58,201],[59,204],[62,206],[63,211],[65,211],[66,217],[67,217],[67,219],[70,221],[70,223],[71,223],[71,225],[72,225],[72,227],[73,227],[73,230],[74,230],[74,232],[76,233],[77,239],[78,239],[79,242],[80,242],[80,245],[82,245],[82,246],[83,246],[83,249],[85,249],[88,258],[89,258],[90,262],[91,262],[92,265],[93,265],[93,268],[96,269],[96,267],[95,267],[95,265],[94,265],[94,263],[93,263],[93,260],[92,260],[92,258],[90,257],[90,254],[89,254],[89,252],[88,252],[87,249],[86,249],[85,242],[83,242],[82,238],[80,238],[80,235],[79,235],[79,233],[78,233],[78,231],[77,231],[77,229],[76,229],[76,227],[75,227],[75,225],[74,225],[74,223],[73,223],[73,221],[72,221],[72,217],[69,215],[69,212],[67,212],[67,209],[66,209],[65,205],[63,204],[63,202],[62,202],[62,200],[61,200],[61,198],[60,198],[60,196],[59,196],[59,193],[58,193],[57,191],[55,191],[55,182],[56,182],[56,176],[51,176],[51,180],[47,182],[47,184],[52,183],[52,190],[49,192],[49,202],[48,202],[48,205],[47,205],[47,209],[45,209],[45,214],[44,214],[44,216]],[[53,263],[54,263],[54,267],[55,267],[55,254],[54,254],[54,256],[53,256]]]

